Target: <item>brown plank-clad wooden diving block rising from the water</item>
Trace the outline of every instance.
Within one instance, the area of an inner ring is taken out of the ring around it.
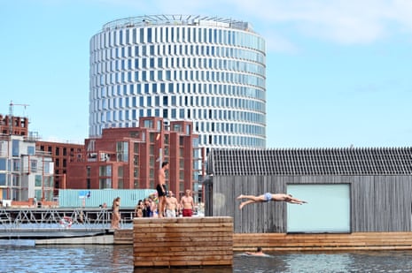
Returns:
[[[233,263],[232,217],[135,218],[135,268]]]

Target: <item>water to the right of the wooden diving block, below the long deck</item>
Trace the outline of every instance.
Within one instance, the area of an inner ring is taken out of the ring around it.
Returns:
[[[412,272],[412,252],[270,253],[269,257],[237,254],[233,272]]]

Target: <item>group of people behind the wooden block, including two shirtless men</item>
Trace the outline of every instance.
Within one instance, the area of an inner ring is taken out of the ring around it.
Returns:
[[[160,202],[164,201],[165,206],[163,211],[159,211]],[[172,191],[167,191],[166,198],[162,200],[155,193],[144,200],[139,200],[135,208],[135,217],[177,217],[177,216],[192,216],[195,205],[191,197],[191,191],[186,190],[181,201],[177,201],[175,194]]]

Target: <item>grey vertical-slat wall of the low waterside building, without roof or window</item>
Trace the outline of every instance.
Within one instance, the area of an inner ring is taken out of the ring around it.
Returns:
[[[286,232],[286,203],[256,204],[239,210],[239,194],[285,193],[293,184],[350,184],[351,231],[412,231],[410,177],[214,177],[213,216],[233,216],[240,233]]]

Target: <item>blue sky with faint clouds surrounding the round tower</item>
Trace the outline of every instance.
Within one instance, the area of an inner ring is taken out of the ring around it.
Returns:
[[[43,140],[89,133],[89,40],[114,19],[198,14],[267,40],[267,147],[409,147],[412,1],[0,0],[0,113]]]

